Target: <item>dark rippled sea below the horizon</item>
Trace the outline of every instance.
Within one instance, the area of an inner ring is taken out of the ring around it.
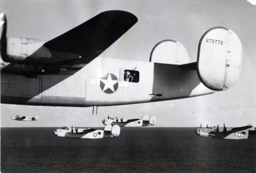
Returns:
[[[255,138],[217,140],[198,137],[191,127],[146,127],[88,140],[57,137],[53,130],[1,128],[1,172],[256,171]]]

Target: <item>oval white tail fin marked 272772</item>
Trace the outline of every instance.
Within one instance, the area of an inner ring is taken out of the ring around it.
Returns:
[[[227,90],[240,75],[242,44],[232,30],[214,27],[206,31],[198,46],[198,76],[212,90]]]

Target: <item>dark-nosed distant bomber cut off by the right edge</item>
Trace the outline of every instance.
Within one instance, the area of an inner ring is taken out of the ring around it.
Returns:
[[[242,140],[256,137],[256,131],[252,124],[237,128],[225,127],[225,124],[223,128],[219,128],[219,125],[213,128],[207,125],[206,128],[202,128],[201,124],[200,128],[196,128],[195,131],[196,134],[201,137],[225,140]]]

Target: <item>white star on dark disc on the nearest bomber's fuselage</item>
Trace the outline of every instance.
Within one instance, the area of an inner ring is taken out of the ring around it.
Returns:
[[[107,94],[115,92],[118,88],[117,77],[111,73],[107,73],[100,78],[100,88]]]

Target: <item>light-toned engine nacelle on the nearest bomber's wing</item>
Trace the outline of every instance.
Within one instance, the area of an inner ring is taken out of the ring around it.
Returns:
[[[4,62],[9,63],[23,63],[28,61],[27,58],[42,47],[44,43],[46,43],[46,40],[6,37],[6,53],[2,55],[2,59]],[[30,57],[30,63],[36,61],[36,59],[51,57],[50,51],[46,47],[44,47],[44,49],[42,48],[35,56]]]

